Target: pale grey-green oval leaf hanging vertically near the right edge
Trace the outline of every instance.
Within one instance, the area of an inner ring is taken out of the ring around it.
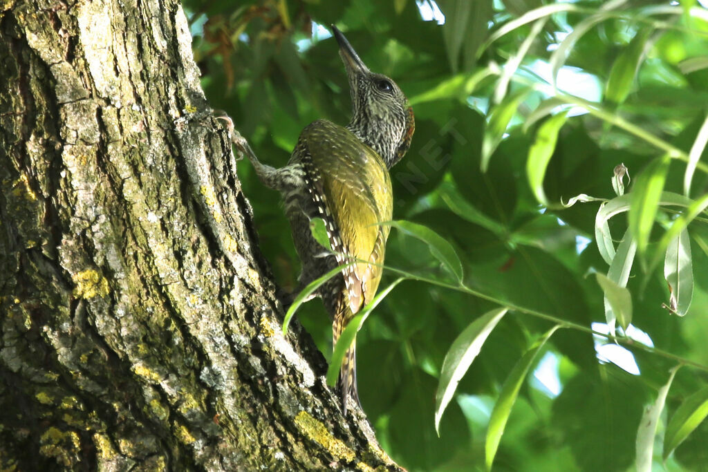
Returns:
[[[678,316],[684,316],[693,298],[691,241],[686,229],[668,244],[664,278],[668,284],[669,308]]]

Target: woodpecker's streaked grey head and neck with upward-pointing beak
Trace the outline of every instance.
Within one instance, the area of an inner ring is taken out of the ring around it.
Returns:
[[[413,108],[396,82],[366,67],[342,32],[332,25],[349,77],[352,120],[348,129],[371,146],[390,169],[411,146]]]

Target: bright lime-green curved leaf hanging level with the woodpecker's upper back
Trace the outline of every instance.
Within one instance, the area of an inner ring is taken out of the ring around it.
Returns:
[[[526,175],[531,185],[531,190],[543,205],[548,205],[546,193],[543,190],[543,178],[546,168],[556,149],[558,132],[566,122],[567,111],[554,115],[541,125],[536,133],[536,139],[529,148],[529,157],[526,161]]]

